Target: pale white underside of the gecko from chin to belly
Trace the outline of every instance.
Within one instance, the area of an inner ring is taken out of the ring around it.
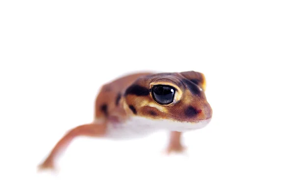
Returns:
[[[125,123],[109,123],[105,137],[109,139],[131,139],[147,136],[159,130],[180,132],[192,131],[203,128],[209,122],[210,119],[189,123],[172,120],[153,120],[144,117],[131,117]]]

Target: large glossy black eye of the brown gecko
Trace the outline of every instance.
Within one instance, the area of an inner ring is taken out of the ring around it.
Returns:
[[[174,92],[173,87],[166,85],[156,85],[152,88],[152,96],[160,104],[172,103]]]

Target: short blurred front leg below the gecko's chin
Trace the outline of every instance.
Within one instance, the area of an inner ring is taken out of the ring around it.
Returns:
[[[184,147],[181,143],[181,134],[182,133],[178,131],[171,131],[169,145],[166,149],[167,154],[185,151],[186,147]]]

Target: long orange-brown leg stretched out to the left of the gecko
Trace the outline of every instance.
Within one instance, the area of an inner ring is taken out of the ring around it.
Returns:
[[[45,161],[39,165],[39,171],[50,169],[54,170],[55,159],[57,156],[65,150],[73,139],[77,136],[88,136],[88,137],[102,137],[106,131],[106,123],[90,123],[77,126],[72,130],[68,131],[53,147],[49,156]]]

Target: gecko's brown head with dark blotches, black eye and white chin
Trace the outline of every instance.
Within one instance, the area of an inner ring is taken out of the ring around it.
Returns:
[[[204,74],[194,71],[142,76],[125,90],[124,108],[158,128],[202,128],[212,118],[205,87]]]

